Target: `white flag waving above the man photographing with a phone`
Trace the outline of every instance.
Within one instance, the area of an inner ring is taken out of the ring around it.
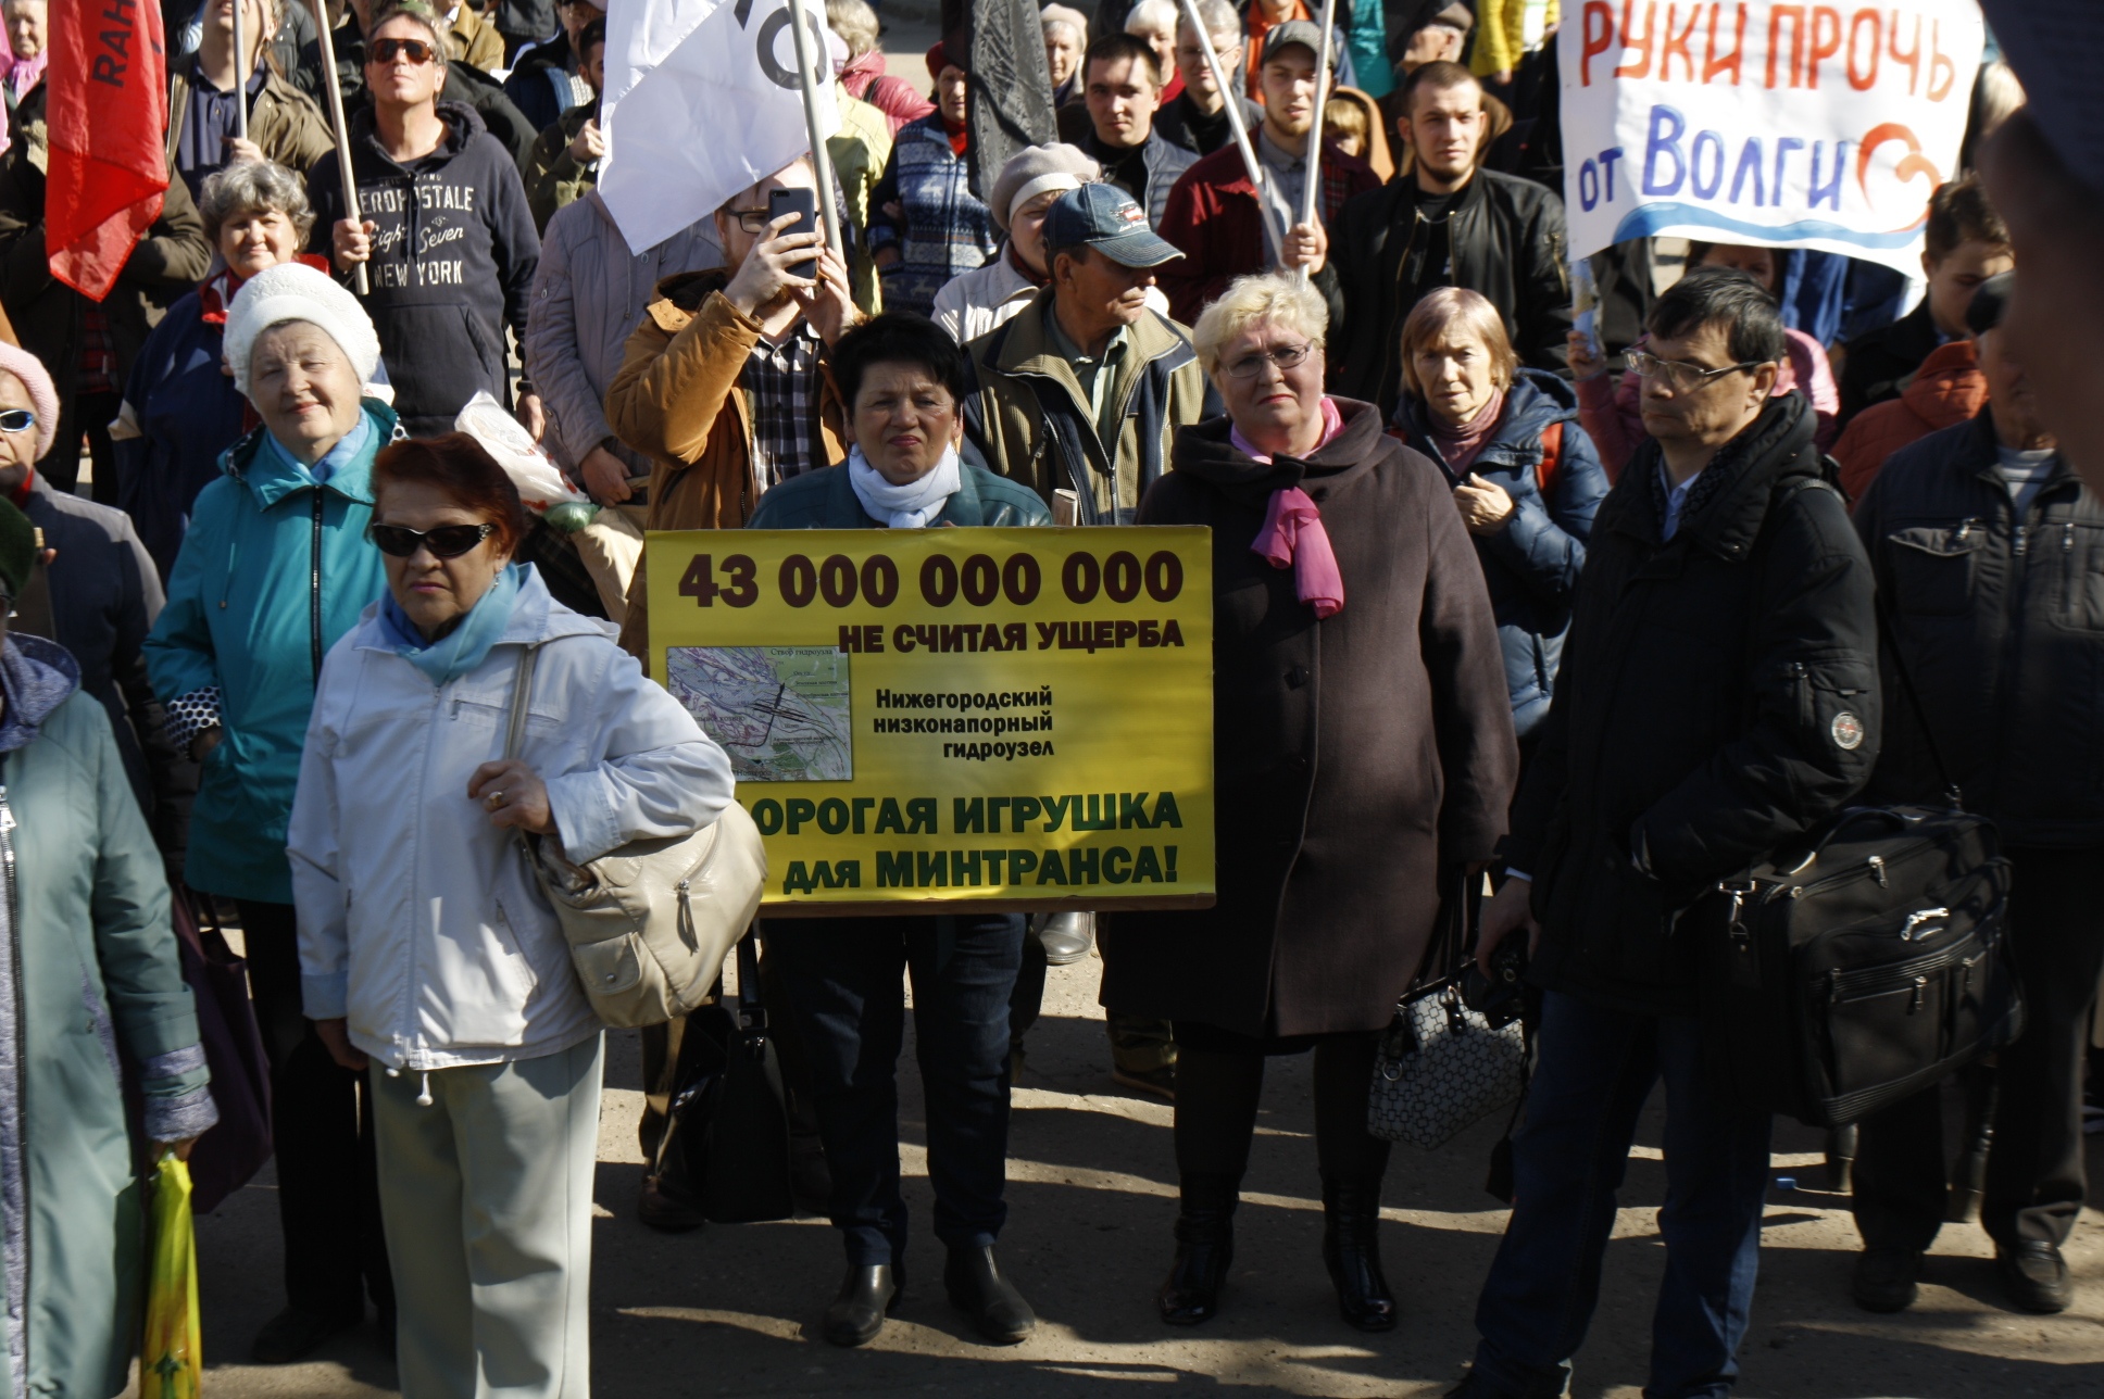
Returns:
[[[610,11],[600,198],[629,248],[654,248],[810,151],[785,0],[629,0]],[[821,139],[839,128],[823,15],[821,0],[804,0]]]

